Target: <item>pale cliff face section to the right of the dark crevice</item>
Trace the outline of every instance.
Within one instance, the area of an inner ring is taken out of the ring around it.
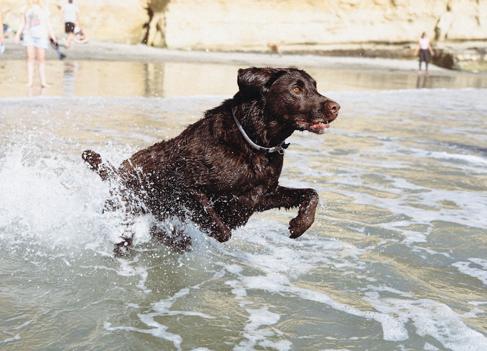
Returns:
[[[423,31],[487,39],[480,0],[171,0],[164,14],[161,33],[172,48],[409,42]]]

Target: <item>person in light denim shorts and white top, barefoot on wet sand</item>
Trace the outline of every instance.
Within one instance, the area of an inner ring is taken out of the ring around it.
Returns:
[[[19,45],[22,34],[22,45],[25,46],[27,54],[27,87],[34,84],[34,63],[37,51],[37,66],[39,70],[40,85],[49,87],[46,82],[46,49],[49,46],[47,36],[57,43],[56,34],[49,21],[51,13],[42,0],[28,0],[27,4],[20,9],[20,28],[15,35],[14,41]]]

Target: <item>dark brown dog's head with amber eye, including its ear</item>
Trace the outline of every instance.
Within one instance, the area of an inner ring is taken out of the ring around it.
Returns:
[[[295,68],[239,70],[240,94],[262,99],[264,112],[294,130],[322,134],[338,116],[340,105],[316,90],[316,81]]]

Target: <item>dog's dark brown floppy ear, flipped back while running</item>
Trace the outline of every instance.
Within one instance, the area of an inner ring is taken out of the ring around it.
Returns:
[[[240,93],[248,98],[265,95],[272,83],[285,72],[270,67],[240,69],[237,78]]]

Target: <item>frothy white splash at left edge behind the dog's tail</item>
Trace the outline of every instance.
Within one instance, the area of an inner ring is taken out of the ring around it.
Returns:
[[[94,221],[102,201],[92,195],[102,186],[89,186],[82,168],[56,158],[24,160],[21,150],[7,153],[0,168],[0,235],[33,237],[40,242],[69,244],[73,228],[97,230]],[[76,243],[90,240],[90,231],[77,233]],[[5,238],[6,239],[6,238]]]

